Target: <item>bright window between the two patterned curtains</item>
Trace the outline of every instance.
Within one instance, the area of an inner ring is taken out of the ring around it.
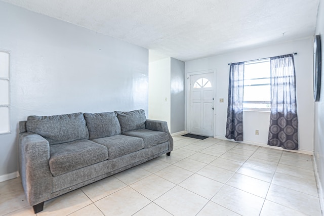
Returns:
[[[243,110],[270,111],[270,59],[245,62]]]

